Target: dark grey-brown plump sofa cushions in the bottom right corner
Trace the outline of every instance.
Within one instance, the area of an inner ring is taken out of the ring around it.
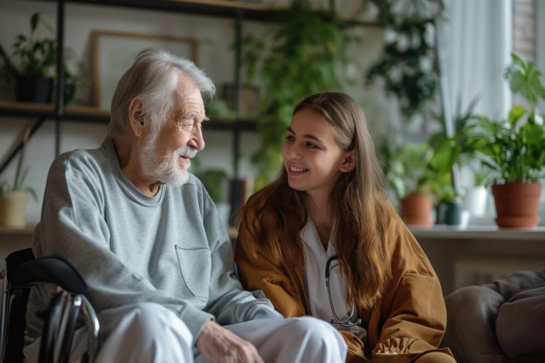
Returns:
[[[545,271],[517,272],[446,297],[441,346],[458,363],[545,362]]]

